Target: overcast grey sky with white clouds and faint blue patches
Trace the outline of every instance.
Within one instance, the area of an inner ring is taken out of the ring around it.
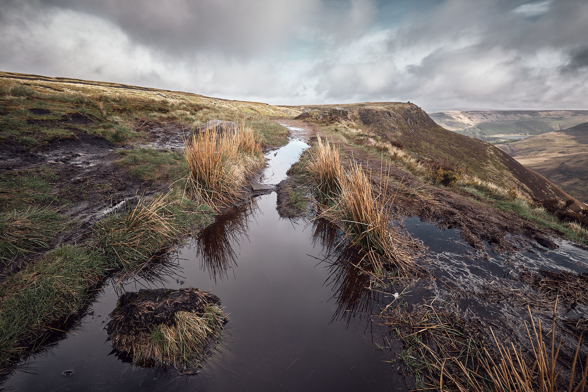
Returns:
[[[588,109],[588,1],[0,0],[0,69],[278,104]]]

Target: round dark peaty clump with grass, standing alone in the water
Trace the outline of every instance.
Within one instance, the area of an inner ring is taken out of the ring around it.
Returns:
[[[219,305],[193,287],[123,293],[106,330],[119,356],[139,366],[194,371],[228,322]]]

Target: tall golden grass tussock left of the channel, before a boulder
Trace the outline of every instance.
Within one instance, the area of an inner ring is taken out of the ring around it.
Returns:
[[[186,192],[216,209],[232,205],[246,178],[262,167],[261,150],[258,137],[243,123],[235,133],[229,129],[193,132],[183,152],[189,170]]]

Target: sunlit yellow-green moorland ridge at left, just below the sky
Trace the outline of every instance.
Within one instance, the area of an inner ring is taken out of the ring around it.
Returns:
[[[260,113],[297,113],[262,103],[190,93],[163,94],[156,89],[124,88],[112,83],[19,80],[7,75],[0,72],[0,143],[17,143],[25,149],[39,148],[54,139],[75,138],[79,133],[103,136],[114,143],[141,139],[145,135],[133,127],[139,118],[195,126],[214,118],[245,119],[264,143],[280,145],[288,130]]]

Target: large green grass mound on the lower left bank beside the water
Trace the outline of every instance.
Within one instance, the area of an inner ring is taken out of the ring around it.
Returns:
[[[0,284],[0,374],[9,360],[38,347],[39,336],[75,317],[106,268],[98,253],[63,246],[6,277]]]

